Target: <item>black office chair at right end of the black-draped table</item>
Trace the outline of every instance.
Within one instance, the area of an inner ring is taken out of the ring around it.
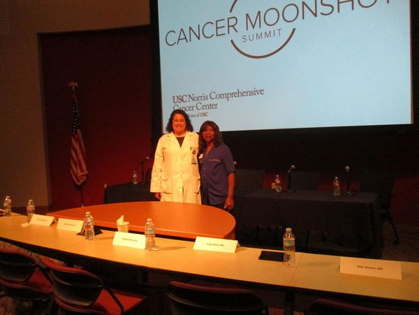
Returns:
[[[380,205],[381,219],[383,224],[388,220],[395,233],[394,244],[399,244],[399,234],[396,226],[392,221],[390,210],[390,201],[392,198],[392,188],[395,178],[392,174],[383,170],[363,170],[360,179],[360,191],[373,192],[378,195],[378,203]]]

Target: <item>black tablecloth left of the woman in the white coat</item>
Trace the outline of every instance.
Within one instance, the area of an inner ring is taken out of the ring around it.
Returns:
[[[124,183],[105,188],[103,203],[128,203],[130,201],[156,201],[150,193],[150,184]]]

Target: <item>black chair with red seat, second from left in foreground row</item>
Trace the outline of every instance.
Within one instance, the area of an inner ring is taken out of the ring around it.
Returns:
[[[95,274],[80,268],[58,265],[42,258],[50,269],[54,299],[59,314],[125,314],[145,300],[142,295],[108,288]]]

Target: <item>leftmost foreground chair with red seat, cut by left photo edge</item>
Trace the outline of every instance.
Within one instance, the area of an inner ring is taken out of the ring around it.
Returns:
[[[34,309],[52,307],[52,284],[34,258],[15,249],[0,249],[0,288],[13,300]]]

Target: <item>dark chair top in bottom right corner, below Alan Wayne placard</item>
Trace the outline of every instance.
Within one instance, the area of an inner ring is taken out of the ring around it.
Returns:
[[[308,315],[419,315],[413,309],[385,305],[359,305],[352,302],[318,299],[311,302]]]

